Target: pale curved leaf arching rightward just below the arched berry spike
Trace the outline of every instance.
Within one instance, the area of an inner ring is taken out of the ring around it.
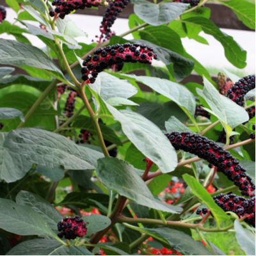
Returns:
[[[191,116],[195,115],[195,97],[185,86],[157,77],[136,76],[134,74],[120,74],[119,76],[146,84],[179,106],[188,109]]]

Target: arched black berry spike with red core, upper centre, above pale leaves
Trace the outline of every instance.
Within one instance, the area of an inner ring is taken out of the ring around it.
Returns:
[[[94,52],[93,57],[89,55],[86,60],[83,61],[84,67],[81,68],[82,79],[86,83],[93,84],[99,72],[102,72],[104,68],[113,64],[121,64],[123,62],[136,63],[137,61],[151,64],[152,58],[157,60],[157,54],[154,54],[152,51],[152,47],[137,43],[115,44],[98,48]]]

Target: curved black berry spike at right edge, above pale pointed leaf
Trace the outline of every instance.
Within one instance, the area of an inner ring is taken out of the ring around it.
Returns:
[[[255,88],[255,75],[245,76],[237,81],[230,90],[227,97],[239,106],[244,106],[244,95]]]

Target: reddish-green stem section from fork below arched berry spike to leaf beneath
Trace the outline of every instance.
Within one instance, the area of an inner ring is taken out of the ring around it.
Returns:
[[[93,123],[93,126],[94,126],[95,131],[96,131],[97,138],[98,138],[99,143],[100,143],[100,148],[102,149],[102,152],[103,152],[104,156],[109,157],[109,153],[108,153],[108,150],[107,150],[106,145],[104,143],[102,132],[100,131],[100,125],[98,123],[98,120],[95,120],[93,118],[94,113],[93,113],[93,110],[90,106],[90,103],[88,102],[88,99],[87,99],[87,97],[84,93],[83,87],[80,88],[79,95],[80,95],[81,99],[83,100],[84,105],[86,106],[86,109],[87,109],[87,111],[88,111],[88,113],[89,113],[89,115],[92,119],[92,123]]]

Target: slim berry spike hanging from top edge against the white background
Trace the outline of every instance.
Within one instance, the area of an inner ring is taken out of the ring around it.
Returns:
[[[100,40],[105,36],[103,40],[104,42],[105,40],[109,40],[111,36],[115,35],[115,32],[112,32],[110,28],[114,24],[116,17],[119,15],[120,12],[123,11],[122,9],[124,9],[128,3],[129,0],[115,0],[113,1],[113,3],[109,4],[109,7],[106,10],[106,13],[104,14],[101,22]]]

